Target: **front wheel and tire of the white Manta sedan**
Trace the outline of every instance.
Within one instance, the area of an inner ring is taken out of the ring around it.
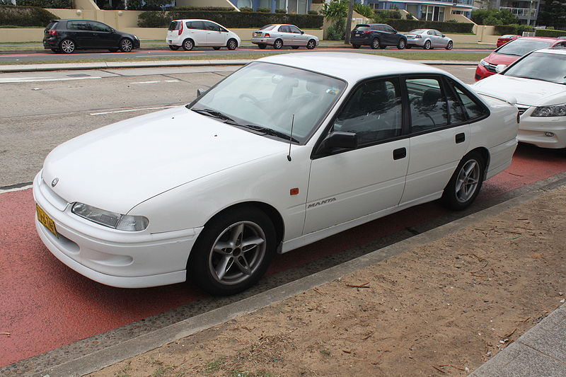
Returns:
[[[229,209],[204,226],[187,262],[187,277],[209,294],[237,294],[265,274],[276,239],[264,212],[255,207]]]

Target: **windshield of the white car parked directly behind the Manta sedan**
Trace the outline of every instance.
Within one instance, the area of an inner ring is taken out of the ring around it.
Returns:
[[[566,55],[533,52],[510,66],[504,75],[566,84]]]

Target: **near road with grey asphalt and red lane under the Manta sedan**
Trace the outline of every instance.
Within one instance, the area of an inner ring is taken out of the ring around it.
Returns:
[[[444,66],[468,83],[473,67]],[[231,298],[185,284],[115,289],[71,271],[42,245],[25,186],[57,144],[105,124],[181,105],[236,67],[56,71],[0,76],[0,375],[59,364],[78,354],[175,323],[445,224],[566,170],[560,151],[519,146],[506,172],[485,182],[469,211],[424,204],[278,255],[268,277]],[[88,167],[85,167],[88,168]],[[1,192],[1,191],[0,191]],[[518,194],[517,194],[518,195]],[[50,351],[53,350],[53,351]],[[42,352],[47,352],[42,354]],[[26,358],[25,361],[19,361]],[[19,362],[16,362],[19,361]],[[13,364],[8,366],[8,364]]]

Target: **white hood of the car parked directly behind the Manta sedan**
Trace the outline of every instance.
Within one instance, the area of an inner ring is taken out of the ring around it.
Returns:
[[[537,106],[553,103],[553,97],[564,96],[566,86],[547,81],[522,79],[520,77],[496,74],[477,83],[473,88],[478,93],[494,95],[498,98],[516,99],[517,104]],[[525,91],[525,88],[529,88]],[[557,99],[558,100],[558,99]],[[564,100],[562,98],[562,100]],[[550,101],[550,102],[549,102]]]

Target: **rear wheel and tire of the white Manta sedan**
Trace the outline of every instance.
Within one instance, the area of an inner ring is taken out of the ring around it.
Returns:
[[[452,178],[444,188],[442,202],[449,209],[466,209],[480,193],[485,172],[485,161],[477,151],[463,156]]]

